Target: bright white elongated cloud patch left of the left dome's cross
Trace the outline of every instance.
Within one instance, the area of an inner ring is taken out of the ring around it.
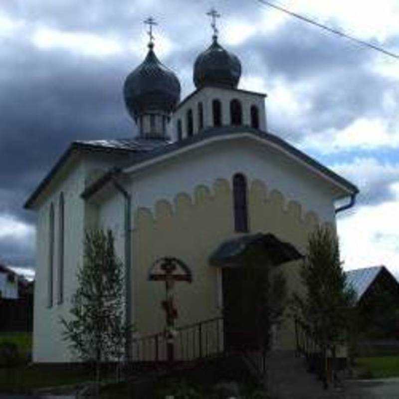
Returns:
[[[123,47],[114,37],[84,31],[67,32],[46,26],[32,34],[32,43],[41,49],[60,48],[86,56],[103,57],[122,52]]]

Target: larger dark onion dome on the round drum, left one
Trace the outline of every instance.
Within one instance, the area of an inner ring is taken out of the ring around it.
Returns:
[[[123,94],[132,118],[146,111],[171,113],[180,101],[180,82],[175,73],[166,67],[149,45],[148,54],[125,80]]]

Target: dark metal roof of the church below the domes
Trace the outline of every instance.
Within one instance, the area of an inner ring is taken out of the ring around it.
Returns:
[[[212,140],[223,140],[227,136],[239,136],[243,134],[253,136],[259,140],[269,143],[270,145],[273,145],[292,158],[303,163],[310,169],[316,171],[324,177],[327,177],[333,183],[338,184],[348,193],[357,194],[359,192],[355,185],[274,134],[266,133],[248,126],[223,126],[221,128],[209,128],[200,134],[185,138],[184,140],[178,142],[170,142],[168,140],[148,140],[141,138],[75,141],[69,146],[68,150],[62,155],[57,164],[51,169],[49,174],[43,179],[37,189],[25,202],[24,207],[30,208],[34,204],[40,193],[47,187],[53,176],[70,158],[74,151],[88,150],[90,152],[99,151],[106,153],[112,152],[126,154],[127,157],[124,159],[124,165],[116,166],[125,167],[124,171],[129,172],[129,169],[131,168],[137,167],[141,164],[144,166],[145,163],[153,160],[156,161],[161,157],[168,155],[172,156],[175,152],[189,149],[192,146],[199,145],[201,142],[205,143]],[[96,183],[97,182],[94,182],[93,185],[96,185]],[[82,193],[83,198],[86,198],[86,194],[89,192],[94,194],[92,190],[93,185],[86,188],[86,190]],[[98,188],[98,184],[96,187]]]

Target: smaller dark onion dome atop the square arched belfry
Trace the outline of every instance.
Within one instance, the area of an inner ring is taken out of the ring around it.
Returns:
[[[194,84],[236,88],[241,76],[241,63],[237,56],[225,50],[213,36],[213,43],[196,59]]]

